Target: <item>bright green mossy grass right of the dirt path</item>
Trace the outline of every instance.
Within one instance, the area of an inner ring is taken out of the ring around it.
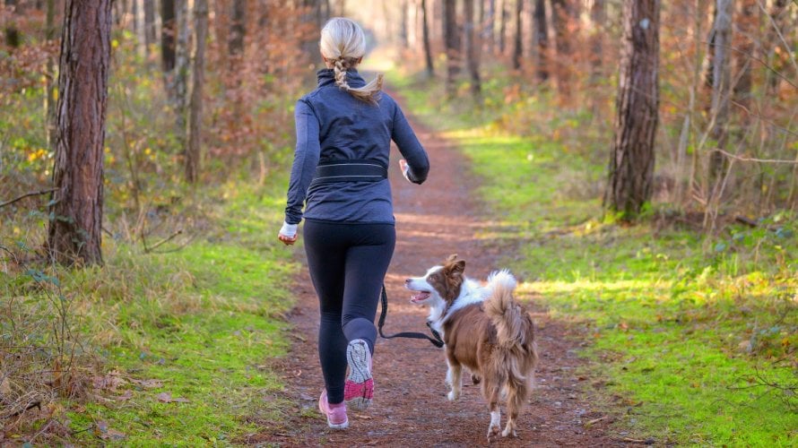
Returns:
[[[540,294],[591,341],[583,356],[618,431],[664,444],[794,444],[794,214],[762,222],[775,231],[731,226],[715,237],[655,220],[607,222],[606,137],[589,115],[559,112],[532,92],[523,108],[509,108],[524,116],[525,132],[508,133],[501,124],[513,116],[447,109],[438,84],[396,77],[409,109],[471,160],[477,193],[502,217],[481,237],[513,248],[503,264],[525,279],[522,295]],[[484,95],[498,100],[495,90]]]

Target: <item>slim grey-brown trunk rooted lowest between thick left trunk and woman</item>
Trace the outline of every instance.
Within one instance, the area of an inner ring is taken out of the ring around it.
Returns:
[[[205,77],[205,40],[208,35],[208,0],[195,0],[194,82],[188,116],[188,148],[186,151],[186,182],[195,184],[199,178],[202,121],[203,84]]]

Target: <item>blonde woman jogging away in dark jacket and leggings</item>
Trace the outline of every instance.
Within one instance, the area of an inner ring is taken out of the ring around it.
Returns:
[[[387,180],[391,140],[412,183],[427,178],[429,159],[402,110],[380,91],[382,75],[367,84],[357,72],[366,53],[360,26],[331,19],[321,31],[320,48],[327,68],[317,73],[317,89],[297,102],[297,148],[278,237],[294,244],[304,217],[321,312],[318,355],[325,390],[318,407],[330,427],[343,429],[349,426],[346,404],[366,409],[374,391],[374,317],[396,240]]]

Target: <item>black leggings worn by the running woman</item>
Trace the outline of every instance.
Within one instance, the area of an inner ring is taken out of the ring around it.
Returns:
[[[374,352],[374,317],[395,244],[392,224],[305,222],[305,253],[321,311],[318,358],[332,404],[343,401],[349,341],[366,340]]]

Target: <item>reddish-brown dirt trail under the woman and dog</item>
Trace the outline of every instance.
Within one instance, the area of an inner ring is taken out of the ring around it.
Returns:
[[[451,142],[413,123],[429,151],[432,169],[424,185],[411,185],[391,168],[394,186],[397,244],[386,278],[390,312],[386,333],[426,331],[427,308],[413,306],[403,289],[408,276],[421,275],[448,254],[466,260],[465,273],[484,280],[497,265],[499,247],[478,242],[473,236],[490,220],[478,215],[464,161]],[[398,151],[393,151],[393,155]],[[276,361],[288,383],[279,397],[296,403],[280,424],[258,422],[263,432],[249,435],[247,444],[278,446],[479,446],[488,444],[490,415],[479,388],[464,375],[464,393],[459,401],[447,401],[446,361],[442,349],[425,340],[377,340],[374,378],[375,400],[364,412],[349,412],[350,428],[327,429],[317,411],[323,387],[317,359],[317,297],[307,269],[297,282],[298,304],[291,314],[293,334],[300,335],[287,358]],[[607,419],[589,403],[585,378],[576,369],[577,340],[534,305],[536,337],[541,352],[537,388],[519,422],[516,439],[496,439],[496,446],[590,446],[619,445],[608,434]],[[502,409],[504,411],[504,409]],[[506,416],[502,415],[502,424]]]

